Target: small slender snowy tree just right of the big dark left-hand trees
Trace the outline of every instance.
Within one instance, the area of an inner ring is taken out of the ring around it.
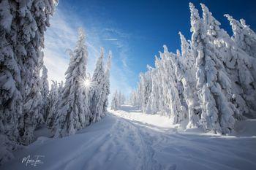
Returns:
[[[49,94],[49,82],[48,82],[48,69],[46,69],[45,66],[42,66],[42,76],[41,76],[41,81],[42,81],[42,89],[41,89],[41,94],[42,94],[42,115],[44,119],[48,117],[48,94]]]

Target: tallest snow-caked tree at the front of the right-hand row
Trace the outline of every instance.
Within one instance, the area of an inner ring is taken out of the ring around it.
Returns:
[[[203,22],[197,9],[189,4],[192,26],[192,50],[196,56],[197,90],[202,108],[203,128],[218,133],[230,133],[234,128],[234,110],[231,107],[230,80],[217,50],[206,34],[216,34],[219,23],[203,8]],[[211,29],[211,32],[208,31]]]

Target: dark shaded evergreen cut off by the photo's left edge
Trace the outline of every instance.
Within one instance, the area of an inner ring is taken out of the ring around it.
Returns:
[[[11,1],[0,2],[0,164],[13,157],[11,151],[15,150],[15,143],[20,138],[19,118],[23,116],[22,61],[16,55],[17,40],[12,38],[18,32],[17,11]]]

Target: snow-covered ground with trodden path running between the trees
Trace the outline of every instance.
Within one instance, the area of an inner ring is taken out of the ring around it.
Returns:
[[[236,128],[233,136],[183,132],[166,117],[123,106],[73,136],[39,137],[0,169],[256,169],[256,120]],[[28,155],[43,155],[43,163],[26,166],[21,161]]]

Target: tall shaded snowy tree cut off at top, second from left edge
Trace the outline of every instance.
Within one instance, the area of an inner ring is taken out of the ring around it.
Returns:
[[[50,26],[49,18],[53,15],[56,1],[26,1],[18,2],[20,28],[18,28],[18,57],[23,58],[21,72],[23,87],[23,117],[20,127],[22,142],[29,144],[34,140],[34,129],[43,123],[42,96],[40,93],[39,72],[42,68],[42,47],[44,47],[44,32]],[[42,109],[41,109],[42,110]]]

